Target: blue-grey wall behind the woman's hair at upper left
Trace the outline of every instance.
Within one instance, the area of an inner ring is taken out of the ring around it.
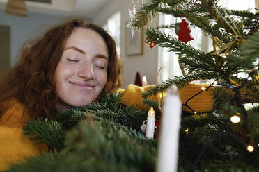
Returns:
[[[0,25],[10,26],[10,62],[14,62],[23,42],[36,37],[45,28],[63,19],[64,17],[34,13],[29,13],[28,17],[15,17],[0,10]]]

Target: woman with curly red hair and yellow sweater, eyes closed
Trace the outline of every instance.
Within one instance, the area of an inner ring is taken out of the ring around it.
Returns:
[[[25,44],[0,81],[0,170],[48,151],[22,135],[27,121],[89,105],[121,86],[120,71],[113,38],[82,19],[50,28]]]

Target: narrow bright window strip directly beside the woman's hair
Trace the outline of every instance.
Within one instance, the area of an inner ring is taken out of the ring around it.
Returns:
[[[114,38],[116,41],[116,49],[118,53],[118,57],[120,57],[120,11],[114,13],[107,20],[107,24],[104,24],[103,28],[108,31],[108,33]]]

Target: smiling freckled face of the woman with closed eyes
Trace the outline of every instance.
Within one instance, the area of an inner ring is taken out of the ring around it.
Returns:
[[[56,109],[89,105],[107,83],[108,49],[99,33],[74,28],[54,74]]]

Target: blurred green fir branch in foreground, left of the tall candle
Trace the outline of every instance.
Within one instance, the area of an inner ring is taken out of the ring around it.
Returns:
[[[154,171],[156,141],[102,120],[79,123],[68,132],[61,153],[30,157],[10,171]]]

